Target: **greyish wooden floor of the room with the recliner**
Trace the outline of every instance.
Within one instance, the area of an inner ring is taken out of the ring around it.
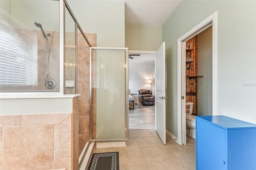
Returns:
[[[134,110],[129,109],[129,129],[154,129],[155,106],[142,106],[138,95],[133,97],[137,105],[134,105]]]

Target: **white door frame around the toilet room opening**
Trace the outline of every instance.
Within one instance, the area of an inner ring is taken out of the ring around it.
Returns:
[[[217,115],[217,12],[214,12],[208,18],[200,22],[186,34],[177,40],[177,129],[178,144],[186,144],[186,114],[184,113],[186,103],[186,89],[182,87],[182,81],[186,81],[186,77],[182,74],[182,68],[186,65],[184,56],[185,43],[190,38],[203,32],[212,26],[212,115]],[[183,42],[183,43],[182,43]],[[183,67],[182,67],[183,66]],[[182,96],[184,99],[182,100]],[[183,111],[183,112],[182,112]],[[183,114],[182,114],[183,113]]]

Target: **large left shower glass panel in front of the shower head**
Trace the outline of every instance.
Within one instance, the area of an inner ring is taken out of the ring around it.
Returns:
[[[60,91],[59,14],[59,1],[0,0],[0,92]]]

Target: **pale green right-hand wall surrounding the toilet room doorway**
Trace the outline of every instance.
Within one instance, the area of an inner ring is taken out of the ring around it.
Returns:
[[[184,0],[162,26],[166,128],[177,131],[177,39],[217,14],[217,114],[256,123],[256,1]]]

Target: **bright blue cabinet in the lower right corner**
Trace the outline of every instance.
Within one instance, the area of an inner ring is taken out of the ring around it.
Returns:
[[[256,170],[256,125],[226,116],[197,116],[196,169]]]

